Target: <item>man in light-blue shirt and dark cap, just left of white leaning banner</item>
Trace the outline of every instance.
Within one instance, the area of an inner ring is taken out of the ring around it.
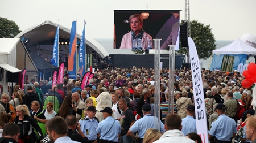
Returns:
[[[183,118],[181,122],[181,125],[182,125],[181,132],[183,132],[185,136],[191,132],[196,133],[196,119],[193,118],[194,115],[195,115],[195,106],[189,105],[187,108],[187,117]]]

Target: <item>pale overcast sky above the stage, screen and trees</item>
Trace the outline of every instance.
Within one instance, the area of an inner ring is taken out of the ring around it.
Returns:
[[[51,20],[71,29],[77,20],[81,34],[86,20],[86,36],[113,38],[113,10],[181,10],[185,19],[185,0],[0,0],[0,17],[19,25],[20,30]],[[255,0],[191,0],[190,19],[212,28],[216,40],[236,40],[245,33],[256,35]]]

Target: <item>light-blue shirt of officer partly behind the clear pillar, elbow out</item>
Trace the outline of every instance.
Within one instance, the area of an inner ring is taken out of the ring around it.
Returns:
[[[143,118],[137,120],[130,128],[131,132],[139,132],[139,138],[144,138],[147,129],[154,128],[155,117],[150,114],[145,115]],[[163,133],[166,130],[164,129],[164,124],[160,122],[160,132]]]

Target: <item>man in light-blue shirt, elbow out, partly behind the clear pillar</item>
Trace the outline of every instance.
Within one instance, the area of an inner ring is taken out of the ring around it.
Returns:
[[[135,140],[136,137],[134,136],[135,132],[139,132],[139,142],[143,142],[144,135],[149,128],[154,128],[154,116],[150,115],[151,106],[148,103],[145,103],[142,106],[142,113],[144,115],[143,118],[137,120],[129,129],[128,134]],[[164,133],[166,130],[164,129],[164,124],[160,122],[160,132]]]

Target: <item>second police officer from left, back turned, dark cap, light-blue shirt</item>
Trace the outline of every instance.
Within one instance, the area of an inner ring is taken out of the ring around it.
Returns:
[[[121,125],[118,120],[112,118],[113,111],[110,107],[105,107],[101,110],[103,118],[98,124],[96,131],[100,133],[100,140],[102,143],[118,142],[118,135],[121,132]]]

